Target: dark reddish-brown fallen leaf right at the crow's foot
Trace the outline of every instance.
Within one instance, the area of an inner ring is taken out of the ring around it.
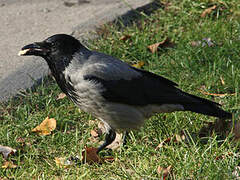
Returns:
[[[87,163],[101,163],[102,160],[97,154],[97,148],[94,147],[85,147],[85,150],[82,152],[82,161]]]

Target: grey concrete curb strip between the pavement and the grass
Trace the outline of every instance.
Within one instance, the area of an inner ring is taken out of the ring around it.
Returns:
[[[108,2],[109,0],[101,1]],[[109,11],[102,11],[99,13],[98,17],[86,18],[85,21],[72,27],[69,34],[73,34],[79,39],[86,39],[89,37],[89,31],[96,30],[96,28],[102,24],[117,22],[119,19],[121,19],[125,25],[131,24],[131,19],[138,18],[139,12],[143,11],[145,14],[150,14],[160,7],[156,2],[144,0],[132,0],[130,6],[132,8],[125,4],[123,7],[115,8],[114,12],[113,9],[109,8]],[[46,37],[48,37],[48,35],[44,38]],[[31,40],[28,43],[31,43]],[[39,79],[46,76],[48,73],[47,64],[43,59],[36,57],[29,59],[28,57],[27,60],[24,60],[22,66],[17,67],[4,78],[0,78],[0,101],[5,101],[9,97],[16,95],[19,91],[24,91],[32,87],[36,82],[41,82]]]

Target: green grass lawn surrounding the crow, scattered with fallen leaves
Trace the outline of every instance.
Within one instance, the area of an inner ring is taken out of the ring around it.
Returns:
[[[212,99],[223,108],[240,114],[240,5],[237,0],[216,1],[216,11],[205,18],[200,15],[211,7],[211,0],[175,0],[150,16],[143,13],[128,27],[106,25],[99,38],[90,41],[95,49],[118,57],[130,64],[144,61],[144,69],[179,84],[189,93]],[[220,3],[222,2],[222,3]],[[131,38],[119,40],[123,35]],[[173,48],[152,54],[147,46],[169,37]],[[191,46],[192,41],[211,38],[215,46]],[[225,85],[221,83],[224,79]],[[212,97],[200,92],[236,93]],[[81,156],[96,124],[89,114],[79,112],[67,98],[56,100],[60,89],[46,78],[34,91],[19,95],[0,105],[0,145],[17,149],[9,160],[16,169],[1,169],[0,177],[8,179],[161,179],[157,167],[172,165],[169,179],[232,179],[239,165],[239,145],[232,135],[219,136],[199,132],[215,118],[189,112],[159,114],[146,121],[144,128],[133,131],[127,145],[113,151],[113,163],[74,165],[68,169],[56,166],[55,157]],[[47,116],[57,120],[49,136],[38,136],[31,129]],[[155,150],[157,145],[184,130],[189,140]],[[23,138],[23,143],[19,142]],[[102,137],[103,138],[103,137]],[[228,155],[231,153],[230,155]],[[217,157],[225,155],[225,158]],[[0,156],[0,165],[4,159]]]

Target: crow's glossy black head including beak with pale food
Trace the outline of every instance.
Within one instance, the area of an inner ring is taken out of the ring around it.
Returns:
[[[82,47],[81,43],[67,34],[56,34],[42,42],[26,45],[19,51],[20,56],[41,56],[47,60],[71,56]]]

